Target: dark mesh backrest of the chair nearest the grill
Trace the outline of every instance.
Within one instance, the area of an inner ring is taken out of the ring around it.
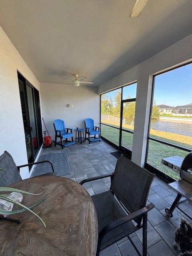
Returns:
[[[116,164],[110,189],[132,213],[146,205],[153,179],[154,174],[121,155]]]

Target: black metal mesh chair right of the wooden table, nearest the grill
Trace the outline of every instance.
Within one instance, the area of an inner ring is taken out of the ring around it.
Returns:
[[[111,177],[110,191],[92,196],[98,216],[98,247],[96,256],[111,244],[128,237],[138,255],[140,252],[130,234],[142,228],[143,256],[147,255],[147,213],[154,205],[146,206],[154,174],[120,156],[113,174],[82,180],[80,184]]]

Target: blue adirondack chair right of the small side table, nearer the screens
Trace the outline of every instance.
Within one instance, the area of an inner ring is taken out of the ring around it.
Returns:
[[[97,130],[98,129],[98,130]],[[87,135],[88,134],[88,138]],[[90,137],[90,135],[93,135],[93,137]],[[96,135],[98,135],[98,138],[96,138]],[[100,138],[100,127],[94,126],[94,120],[91,118],[85,119],[85,141],[88,140],[89,144],[91,142],[95,141],[101,141]]]

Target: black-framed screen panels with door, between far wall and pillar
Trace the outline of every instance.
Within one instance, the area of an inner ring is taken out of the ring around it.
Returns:
[[[101,136],[131,157],[136,83],[101,95]]]

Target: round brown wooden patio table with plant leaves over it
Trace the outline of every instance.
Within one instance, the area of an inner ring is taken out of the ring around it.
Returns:
[[[78,183],[64,177],[42,176],[13,184],[11,187],[39,193],[24,194],[22,203],[35,204],[50,194],[30,212],[14,214],[20,224],[0,220],[1,256],[95,256],[98,221],[92,198]],[[14,206],[14,209],[18,209]]]

